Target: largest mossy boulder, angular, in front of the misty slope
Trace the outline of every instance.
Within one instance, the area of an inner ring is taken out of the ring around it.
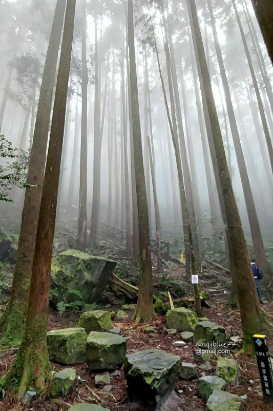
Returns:
[[[115,267],[116,261],[78,250],[67,250],[57,255],[51,265],[51,287],[55,291],[53,302],[99,302]]]

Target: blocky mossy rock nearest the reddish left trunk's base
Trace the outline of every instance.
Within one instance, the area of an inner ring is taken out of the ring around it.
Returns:
[[[64,328],[47,334],[49,358],[61,364],[86,362],[87,333],[84,328]]]

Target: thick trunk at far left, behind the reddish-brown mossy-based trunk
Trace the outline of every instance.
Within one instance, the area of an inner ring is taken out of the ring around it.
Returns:
[[[0,322],[0,331],[6,330],[1,344],[7,346],[18,345],[25,331],[29,284],[45,173],[53,87],[65,7],[66,0],[57,0],[37,108],[27,180],[31,186],[26,189],[25,193],[11,299]]]

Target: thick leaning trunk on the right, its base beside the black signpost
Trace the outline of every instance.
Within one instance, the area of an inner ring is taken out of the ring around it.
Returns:
[[[201,76],[205,91],[205,99],[208,109],[209,119],[212,125],[213,141],[216,151],[216,159],[222,188],[222,196],[226,212],[228,230],[230,233],[230,246],[233,254],[235,265],[236,284],[238,291],[238,300],[241,313],[242,329],[244,333],[244,349],[254,352],[253,334],[260,329],[260,307],[253,274],[250,267],[247,245],[241,225],[239,211],[235,200],[232,183],[230,181],[225,150],[217,117],[216,106],[213,97],[211,80],[209,79],[205,51],[202,42],[201,31],[197,16],[195,0],[187,0],[188,13],[192,34],[195,37]],[[204,103],[204,102],[203,102]]]

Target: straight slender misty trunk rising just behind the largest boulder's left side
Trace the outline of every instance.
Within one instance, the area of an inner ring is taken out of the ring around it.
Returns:
[[[86,56],[86,1],[82,0],[82,31],[81,31],[81,132],[80,132],[80,177],[79,177],[79,214],[77,249],[85,251],[87,241],[87,88],[88,69]]]

